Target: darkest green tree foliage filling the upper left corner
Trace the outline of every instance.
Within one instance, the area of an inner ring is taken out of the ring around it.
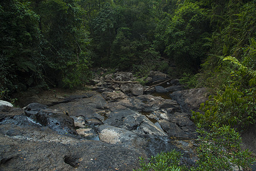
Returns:
[[[39,17],[29,3],[0,3],[0,85],[7,92],[26,89],[43,81]]]

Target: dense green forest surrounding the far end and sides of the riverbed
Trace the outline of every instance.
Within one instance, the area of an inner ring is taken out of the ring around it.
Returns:
[[[159,70],[211,89],[196,123],[242,131],[256,119],[255,18],[255,0],[2,0],[0,99],[83,87],[92,67]]]

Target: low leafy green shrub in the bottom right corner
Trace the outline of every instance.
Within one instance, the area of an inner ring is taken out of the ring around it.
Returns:
[[[242,151],[241,137],[230,126],[219,127],[213,124],[209,131],[200,129],[200,146],[197,148],[198,167],[195,170],[232,170],[235,166],[239,170],[247,170],[255,162],[248,150]]]

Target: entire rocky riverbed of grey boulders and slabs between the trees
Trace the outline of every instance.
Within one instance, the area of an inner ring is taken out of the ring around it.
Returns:
[[[152,72],[148,82],[167,80]],[[129,72],[96,76],[91,91],[23,96],[22,108],[0,105],[0,170],[132,170],[140,156],[183,153],[198,159],[190,109],[208,97],[205,88],[142,86]],[[145,91],[147,90],[147,91]],[[169,94],[169,97],[153,96]]]

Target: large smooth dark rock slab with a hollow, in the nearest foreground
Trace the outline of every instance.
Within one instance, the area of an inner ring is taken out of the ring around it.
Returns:
[[[7,125],[5,125],[7,126]],[[132,170],[137,158],[145,156],[135,148],[101,141],[79,141],[40,129],[22,130],[22,136],[6,136],[0,126],[0,169],[5,170]],[[5,128],[7,129],[7,128]],[[27,135],[32,137],[27,137]],[[55,140],[55,141],[54,141]],[[118,157],[116,157],[118,156]],[[111,161],[111,162],[109,162]]]

